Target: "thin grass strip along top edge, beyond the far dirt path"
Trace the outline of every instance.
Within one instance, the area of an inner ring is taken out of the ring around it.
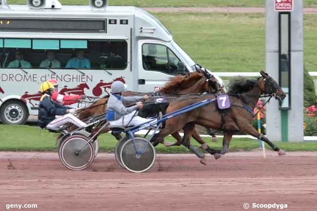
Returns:
[[[25,0],[7,0],[9,4],[25,4]],[[64,5],[85,5],[88,0],[60,0]],[[109,0],[110,5],[138,7],[265,7],[265,0]],[[305,7],[317,7],[316,0],[304,0]]]

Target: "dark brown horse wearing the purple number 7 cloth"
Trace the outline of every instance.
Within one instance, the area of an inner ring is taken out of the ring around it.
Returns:
[[[203,154],[190,145],[190,137],[194,133],[195,124],[198,124],[208,128],[224,130],[222,150],[213,150],[216,159],[218,159],[221,154],[228,152],[232,135],[238,131],[250,134],[266,142],[273,150],[277,151],[279,155],[284,155],[285,152],[283,150],[275,146],[265,135],[258,133],[252,126],[254,117],[252,111],[258,102],[258,98],[262,94],[276,96],[279,100],[285,97],[284,92],[272,77],[263,71],[261,71],[260,74],[262,77],[259,77],[258,80],[236,80],[232,84],[228,92],[231,102],[229,109],[219,110],[217,101],[212,101],[205,106],[168,119],[165,128],[153,137],[153,145],[156,146],[158,143],[163,143],[165,136],[177,133],[183,129],[184,136],[181,141],[182,145],[202,158],[201,162],[205,162]],[[215,96],[199,96],[192,99],[180,98],[179,100],[171,102],[166,110],[166,114],[193,103],[212,98],[215,98]]]

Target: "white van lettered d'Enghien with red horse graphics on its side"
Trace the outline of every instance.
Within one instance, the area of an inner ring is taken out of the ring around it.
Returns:
[[[152,92],[170,77],[195,69],[169,31],[136,7],[2,5],[0,15],[5,124],[24,124],[38,114],[40,83],[48,79],[57,79],[62,94],[101,97],[115,80],[128,90]]]

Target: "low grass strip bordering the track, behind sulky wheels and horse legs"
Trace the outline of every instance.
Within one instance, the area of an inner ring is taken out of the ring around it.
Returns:
[[[56,134],[41,130],[38,126],[28,125],[0,125],[0,151],[54,151]],[[171,136],[166,140],[174,141]],[[204,140],[215,149],[222,147],[221,141],[213,143],[210,138]],[[109,133],[99,136],[100,151],[113,152],[117,140]],[[316,143],[281,143],[275,142],[277,146],[285,151],[317,151]],[[198,143],[192,140],[192,144],[198,146]],[[234,138],[231,141],[230,151],[250,151],[258,148],[258,141],[248,138]],[[269,148],[266,146],[266,148]],[[159,145],[158,153],[188,153],[185,147],[166,148]]]

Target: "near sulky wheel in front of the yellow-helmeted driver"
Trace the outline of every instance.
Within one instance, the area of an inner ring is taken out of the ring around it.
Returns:
[[[86,169],[95,158],[94,147],[83,135],[67,137],[59,147],[59,160],[70,170]]]

